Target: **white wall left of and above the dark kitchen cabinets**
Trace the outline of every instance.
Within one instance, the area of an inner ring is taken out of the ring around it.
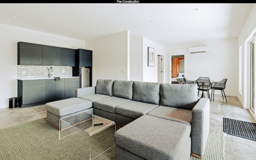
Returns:
[[[9,98],[18,96],[17,43],[29,42],[65,48],[85,48],[85,42],[53,34],[0,24],[0,108],[9,107]]]

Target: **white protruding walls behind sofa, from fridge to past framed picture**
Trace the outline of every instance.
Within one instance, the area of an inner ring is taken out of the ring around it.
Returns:
[[[155,48],[154,67],[148,66],[148,46]],[[164,45],[129,31],[98,38],[88,42],[86,47],[92,50],[92,86],[96,85],[97,79],[157,82],[157,55],[165,55]],[[122,70],[126,71],[125,74]]]

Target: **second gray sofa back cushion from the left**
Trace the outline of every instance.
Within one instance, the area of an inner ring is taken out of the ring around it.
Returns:
[[[115,80],[113,96],[132,100],[133,81]]]

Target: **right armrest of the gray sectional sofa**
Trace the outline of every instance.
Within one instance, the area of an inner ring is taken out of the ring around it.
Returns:
[[[210,129],[210,100],[200,98],[192,109],[191,154],[202,157]]]

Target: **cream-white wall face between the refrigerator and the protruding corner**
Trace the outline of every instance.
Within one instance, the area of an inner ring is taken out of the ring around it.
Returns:
[[[120,32],[88,42],[86,46],[92,50],[92,86],[96,86],[97,79],[128,80],[128,34]]]

